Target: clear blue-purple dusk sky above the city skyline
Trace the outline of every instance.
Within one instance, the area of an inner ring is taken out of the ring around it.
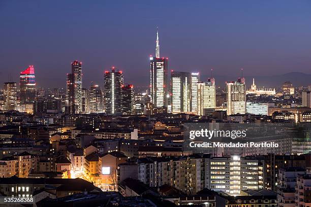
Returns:
[[[311,1],[0,0],[0,82],[35,65],[37,85],[65,87],[70,63],[83,85],[103,85],[111,65],[149,83],[159,27],[169,70],[208,75],[311,73]],[[231,81],[231,80],[228,80]]]

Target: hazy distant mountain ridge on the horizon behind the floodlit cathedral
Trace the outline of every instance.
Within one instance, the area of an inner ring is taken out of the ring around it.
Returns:
[[[206,81],[208,77],[201,77],[201,81]],[[215,76],[217,86],[225,87],[226,81],[236,81],[238,77],[234,76]],[[294,87],[311,85],[311,74],[292,72],[274,76],[246,76],[246,87],[250,87],[255,78],[255,84],[258,87],[280,88],[285,81],[290,81]]]

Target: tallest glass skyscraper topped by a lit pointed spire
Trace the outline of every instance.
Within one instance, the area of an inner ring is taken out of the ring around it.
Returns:
[[[168,58],[160,58],[159,34],[155,57],[150,57],[150,95],[154,107],[167,107],[168,105]]]

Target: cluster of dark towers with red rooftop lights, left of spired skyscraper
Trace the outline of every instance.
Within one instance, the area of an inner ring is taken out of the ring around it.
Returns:
[[[115,67],[104,73],[104,90],[92,84],[82,87],[82,63],[71,63],[72,73],[67,74],[66,114],[106,112],[107,114],[131,114],[134,109],[134,87],[124,85],[122,71]]]

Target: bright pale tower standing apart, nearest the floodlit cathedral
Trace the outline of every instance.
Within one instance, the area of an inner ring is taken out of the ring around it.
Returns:
[[[246,113],[245,79],[237,82],[226,82],[227,85],[227,115]]]

